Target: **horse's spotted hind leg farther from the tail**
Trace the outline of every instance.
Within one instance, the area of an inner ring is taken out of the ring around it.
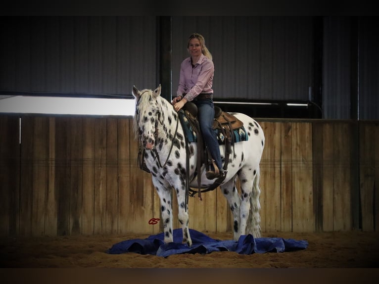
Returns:
[[[228,204],[230,210],[233,213],[233,238],[238,240],[239,238],[239,223],[240,223],[240,204],[241,198],[239,197],[237,188],[236,188],[236,179],[237,177],[232,178],[229,182],[220,186],[220,189],[226,199],[228,200]]]

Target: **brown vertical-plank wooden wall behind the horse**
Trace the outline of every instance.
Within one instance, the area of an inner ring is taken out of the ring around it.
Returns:
[[[378,121],[259,122],[263,232],[378,230]],[[0,133],[0,236],[161,232],[130,117],[0,115]],[[192,229],[232,230],[219,190],[189,202]]]

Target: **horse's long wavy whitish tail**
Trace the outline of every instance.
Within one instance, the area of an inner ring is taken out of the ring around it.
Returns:
[[[261,203],[259,202],[259,196],[261,194],[261,189],[259,182],[261,179],[260,168],[257,169],[257,174],[253,182],[253,189],[250,196],[250,212],[249,218],[246,224],[246,235],[251,234],[253,237],[261,237]]]

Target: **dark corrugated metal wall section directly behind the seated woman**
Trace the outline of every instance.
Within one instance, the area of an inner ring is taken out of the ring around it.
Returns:
[[[313,18],[172,17],[173,94],[187,40],[198,32],[213,55],[215,97],[308,100],[312,87]]]

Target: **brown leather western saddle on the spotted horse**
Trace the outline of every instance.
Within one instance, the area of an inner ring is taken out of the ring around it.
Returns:
[[[223,111],[220,107],[214,106],[215,108],[215,116],[214,116],[214,121],[212,124],[212,127],[214,130],[220,131],[224,137],[226,138],[225,141],[225,163],[224,163],[224,170],[228,168],[228,163],[229,163],[229,155],[231,154],[231,147],[232,145],[234,146],[234,136],[233,136],[233,131],[235,129],[239,129],[243,126],[242,121],[240,121],[236,116],[229,112]],[[182,108],[184,111],[188,121],[190,122],[190,125],[193,129],[193,131],[197,135],[197,185],[198,185],[198,190],[195,191],[193,189],[189,188],[189,173],[187,173],[187,190],[188,194],[193,197],[194,194],[197,192],[200,200],[201,198],[201,192],[209,191],[216,189],[225,179],[224,177],[220,177],[217,179],[213,185],[211,185],[207,189],[201,190],[201,165],[205,164],[206,170],[209,170],[211,164],[214,164],[214,160],[205,146],[205,143],[202,139],[201,136],[201,131],[200,131],[200,125],[197,120],[197,106],[193,102],[187,102],[184,107]],[[181,111],[182,111],[181,110]],[[181,123],[184,126],[184,122],[182,121],[182,116],[181,118]],[[186,151],[187,151],[187,156],[189,155],[189,149],[188,149],[188,142],[186,141]],[[189,159],[187,159],[187,169],[189,168]],[[215,164],[214,164],[215,166]],[[186,195],[188,195],[186,194]]]

